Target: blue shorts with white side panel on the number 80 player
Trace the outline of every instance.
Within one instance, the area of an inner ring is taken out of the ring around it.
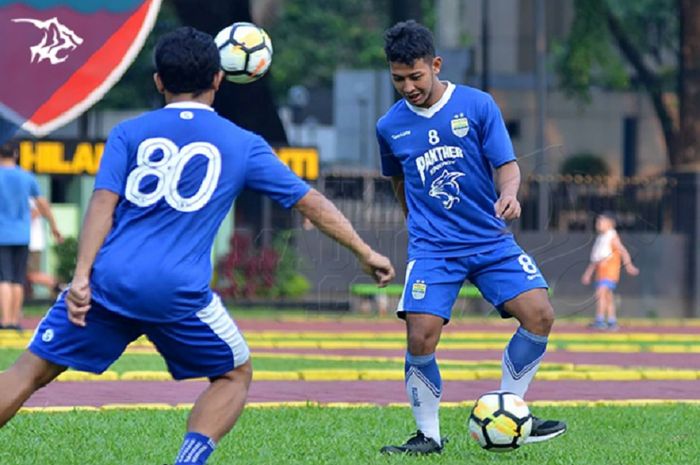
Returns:
[[[175,379],[215,378],[245,363],[248,345],[221,299],[172,322],[128,318],[92,302],[86,326],[68,321],[65,291],[37,327],[29,350],[56,365],[102,373],[145,334]]]

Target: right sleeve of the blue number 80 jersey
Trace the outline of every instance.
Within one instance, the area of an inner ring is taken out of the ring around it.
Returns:
[[[269,196],[284,208],[293,207],[311,189],[280,161],[260,137],[253,141],[250,148],[245,186]]]

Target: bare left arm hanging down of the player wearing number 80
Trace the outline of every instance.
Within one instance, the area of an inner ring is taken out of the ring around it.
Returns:
[[[90,272],[95,257],[112,229],[112,216],[119,196],[105,189],[98,189],[90,198],[83,229],[78,243],[78,261],[70,290],[66,296],[68,319],[78,326],[85,326],[85,316],[90,310]]]

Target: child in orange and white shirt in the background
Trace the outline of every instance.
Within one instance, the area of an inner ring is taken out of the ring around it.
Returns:
[[[613,291],[620,281],[620,267],[624,266],[631,276],[639,274],[639,269],[632,263],[632,257],[622,244],[615,226],[612,213],[598,215],[595,222],[598,237],[591,250],[591,263],[581,277],[581,282],[589,285],[595,273],[597,305],[595,321],[590,326],[612,331],[618,329]]]

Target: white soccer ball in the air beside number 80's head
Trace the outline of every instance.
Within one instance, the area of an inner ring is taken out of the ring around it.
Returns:
[[[261,78],[272,63],[272,41],[252,23],[233,23],[214,37],[226,79],[247,84]]]

